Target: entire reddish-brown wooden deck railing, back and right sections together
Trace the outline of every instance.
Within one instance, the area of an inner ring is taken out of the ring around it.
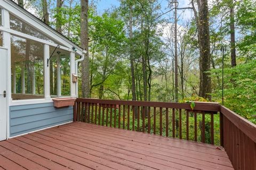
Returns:
[[[74,121],[221,145],[235,169],[256,169],[256,125],[219,104],[78,98]]]

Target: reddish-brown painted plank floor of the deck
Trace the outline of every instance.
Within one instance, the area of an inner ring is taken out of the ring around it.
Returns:
[[[0,142],[0,169],[234,169],[219,148],[75,122]]]

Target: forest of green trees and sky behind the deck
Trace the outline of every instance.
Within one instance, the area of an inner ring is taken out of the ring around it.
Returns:
[[[222,103],[223,88],[256,123],[255,0],[17,3],[87,50],[80,97]]]

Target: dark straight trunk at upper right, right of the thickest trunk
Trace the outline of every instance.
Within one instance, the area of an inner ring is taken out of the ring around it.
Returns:
[[[231,66],[236,66],[236,42],[235,42],[235,14],[234,2],[230,1],[230,50],[231,50]]]

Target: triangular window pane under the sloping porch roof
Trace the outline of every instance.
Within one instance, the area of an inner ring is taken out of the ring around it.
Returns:
[[[10,28],[15,31],[26,33],[27,35],[30,35],[30,36],[33,36],[36,38],[40,38],[43,40],[50,41],[52,43],[59,44],[59,43],[55,42],[54,40],[52,40],[50,37],[46,36],[44,33],[39,32],[38,30],[36,30],[33,27],[30,27],[30,25],[21,21],[20,19],[18,19],[17,17],[15,17],[12,14],[10,14]]]

